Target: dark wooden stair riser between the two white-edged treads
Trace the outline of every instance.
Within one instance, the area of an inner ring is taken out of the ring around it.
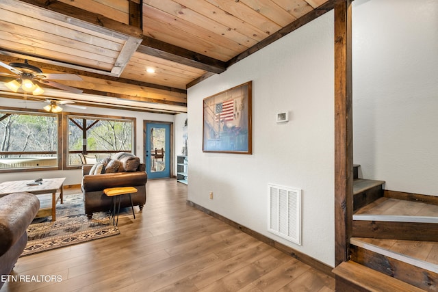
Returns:
[[[438,241],[438,224],[353,221],[352,237]]]

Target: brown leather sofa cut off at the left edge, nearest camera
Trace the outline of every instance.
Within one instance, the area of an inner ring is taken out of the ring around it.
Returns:
[[[9,275],[27,244],[27,227],[40,209],[40,200],[29,193],[0,198],[0,274]],[[0,281],[0,288],[4,282]]]

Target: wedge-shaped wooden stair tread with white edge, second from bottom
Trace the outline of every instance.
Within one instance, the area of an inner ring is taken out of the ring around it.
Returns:
[[[438,273],[438,242],[352,237],[350,244]]]

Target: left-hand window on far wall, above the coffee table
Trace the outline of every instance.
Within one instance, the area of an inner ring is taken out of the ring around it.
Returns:
[[[0,110],[0,172],[58,168],[58,116]]]

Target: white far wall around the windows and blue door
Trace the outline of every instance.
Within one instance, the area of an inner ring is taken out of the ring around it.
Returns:
[[[41,109],[44,103],[23,101],[15,98],[0,98],[1,107],[27,107],[28,109]],[[143,141],[143,120],[155,120],[164,122],[174,122],[174,115],[144,113],[141,111],[127,111],[119,109],[102,109],[96,107],[87,107],[87,109],[76,109],[73,107],[64,107],[64,111],[77,114],[99,114],[103,116],[122,116],[136,118],[136,155],[143,161],[144,141]],[[178,138],[178,137],[177,137]],[[0,173],[0,183],[3,181],[17,181],[34,178],[55,178],[66,177],[64,185],[77,185],[81,183],[81,170],[51,170],[38,172],[10,172]]]

